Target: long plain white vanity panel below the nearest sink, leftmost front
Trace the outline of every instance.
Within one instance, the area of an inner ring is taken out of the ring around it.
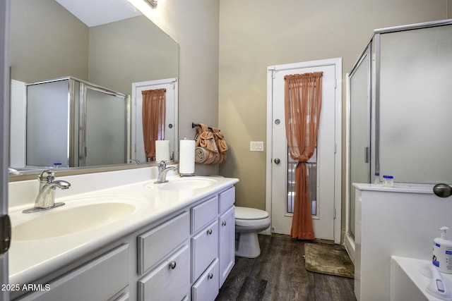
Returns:
[[[129,245],[121,245],[20,300],[108,300],[129,285]]]

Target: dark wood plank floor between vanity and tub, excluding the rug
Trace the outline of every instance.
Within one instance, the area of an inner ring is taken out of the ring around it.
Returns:
[[[352,301],[354,280],[312,273],[304,268],[304,243],[259,235],[261,256],[236,257],[216,301]]]

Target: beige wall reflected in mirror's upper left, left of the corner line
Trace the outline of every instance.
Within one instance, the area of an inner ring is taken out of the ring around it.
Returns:
[[[10,43],[14,80],[88,80],[88,26],[54,0],[11,1]]]

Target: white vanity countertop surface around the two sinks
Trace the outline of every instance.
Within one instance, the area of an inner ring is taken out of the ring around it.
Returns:
[[[171,181],[177,178],[179,177],[168,177],[168,180]],[[116,188],[96,190],[69,197],[57,197],[55,202],[66,202],[66,204],[69,204],[71,199],[81,197],[133,195],[145,199],[145,206],[126,219],[71,235],[41,240],[17,241],[14,240],[13,232],[11,248],[8,251],[10,283],[26,284],[36,281],[49,274],[49,272],[57,271],[61,267],[81,259],[83,256],[99,250],[101,247],[105,247],[125,235],[129,235],[169,214],[189,207],[190,204],[203,197],[224,190],[239,182],[236,178],[208,178],[215,179],[215,183],[207,188],[198,188],[196,190],[162,190],[157,185],[150,188],[148,184],[153,183],[153,180],[145,180]],[[63,179],[61,178],[61,180]],[[30,207],[30,204],[13,207],[13,211],[10,211],[10,214],[13,216],[14,212],[22,211],[28,207]],[[51,210],[58,210],[63,207]],[[12,223],[14,225],[13,219]],[[58,225],[49,225],[49,227],[58,227]]]

